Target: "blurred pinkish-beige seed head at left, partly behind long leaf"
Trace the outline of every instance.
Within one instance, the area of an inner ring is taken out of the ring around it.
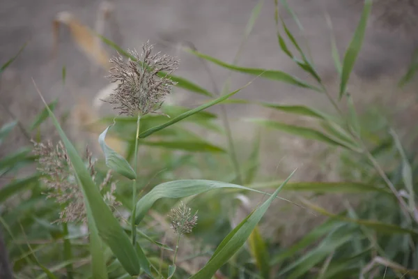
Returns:
[[[68,158],[68,153],[65,150],[62,142],[54,146],[52,142],[42,144],[33,142],[35,145],[33,153],[38,158],[38,171],[42,174],[41,181],[45,183],[49,189],[47,198],[52,198],[61,206],[61,212],[57,223],[86,223],[86,209],[84,207],[84,197],[80,190],[76,178],[75,171]],[[86,149],[86,162],[88,164],[88,171],[91,174],[93,181],[95,180],[96,172],[94,169],[95,160],[93,160],[92,153]],[[111,183],[111,173],[100,183],[100,190],[104,189]],[[104,193],[104,201],[114,209],[119,205],[114,198],[116,186],[111,183],[109,190]]]

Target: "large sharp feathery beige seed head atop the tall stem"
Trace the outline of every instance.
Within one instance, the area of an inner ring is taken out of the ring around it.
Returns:
[[[147,42],[142,47],[141,55],[136,50],[128,50],[136,61],[124,61],[121,55],[110,59],[113,66],[109,79],[118,82],[118,86],[106,101],[114,105],[119,114],[142,116],[155,113],[176,85],[167,75],[159,76],[158,73],[173,73],[177,69],[178,59],[161,55],[160,52],[151,54],[152,50],[153,45]]]

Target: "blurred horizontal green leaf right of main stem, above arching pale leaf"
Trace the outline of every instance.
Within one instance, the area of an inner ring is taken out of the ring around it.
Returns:
[[[158,146],[166,149],[178,149],[190,152],[210,152],[225,153],[226,151],[219,146],[215,146],[203,141],[178,140],[178,141],[140,141],[139,144],[147,146]]]

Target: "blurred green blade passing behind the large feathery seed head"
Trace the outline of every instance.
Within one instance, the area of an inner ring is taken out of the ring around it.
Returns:
[[[137,61],[137,59],[134,58],[134,56],[130,55],[129,53],[127,53],[125,50],[123,50],[122,47],[119,47],[118,45],[116,45],[116,43],[112,42],[111,40],[109,40],[108,38],[105,38],[104,36],[97,34],[97,36],[99,36],[103,43],[105,43],[106,45],[109,45],[109,47],[114,48],[114,50],[116,50],[117,52],[119,52],[119,54],[130,58],[132,61]],[[162,77],[170,77],[171,80],[173,80],[173,82],[177,82],[176,86],[186,89],[187,91],[191,91],[194,93],[199,93],[201,95],[204,96],[208,96],[208,97],[213,97],[213,94],[210,93],[209,91],[207,91],[206,89],[203,89],[201,86],[194,84],[193,82],[190,82],[189,80],[186,80],[183,77],[178,77],[176,75],[167,75],[167,73],[164,72],[159,72],[158,76]]]

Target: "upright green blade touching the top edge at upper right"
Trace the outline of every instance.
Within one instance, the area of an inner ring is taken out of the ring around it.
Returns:
[[[372,2],[372,0],[365,0],[362,17],[360,18],[359,24],[357,25],[357,29],[355,30],[351,43],[350,45],[348,45],[346,54],[344,55],[343,70],[341,72],[341,82],[339,90],[340,99],[343,97],[343,94],[346,93],[346,87],[348,80],[350,79],[351,71],[354,68],[357,55],[359,54],[360,49],[362,48],[364,33],[366,33],[366,25],[367,20],[369,19]]]

